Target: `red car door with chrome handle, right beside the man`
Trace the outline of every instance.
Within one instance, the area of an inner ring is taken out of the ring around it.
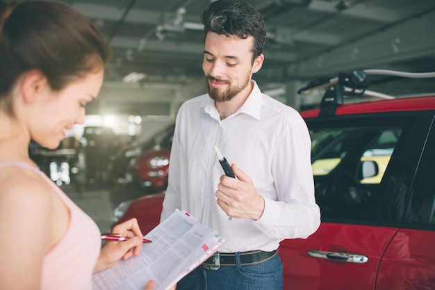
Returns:
[[[306,122],[322,223],[308,239],[281,242],[284,289],[375,289],[381,258],[407,214],[408,193],[382,202],[405,156],[409,175],[415,172],[428,118],[388,113]],[[375,165],[370,175],[366,164]]]

